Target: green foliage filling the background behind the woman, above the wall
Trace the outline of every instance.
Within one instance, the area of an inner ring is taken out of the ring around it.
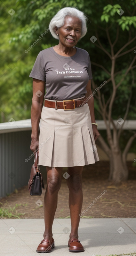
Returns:
[[[58,44],[58,40],[56,41],[50,32],[41,36],[48,29],[51,18],[58,10],[73,6],[87,15],[88,32],[79,40],[77,47],[84,48],[89,52],[93,78],[96,86],[99,86],[110,78],[111,59],[97,46],[100,42],[107,53],[111,54],[107,31],[113,44],[119,29],[119,38],[114,45],[115,54],[135,36],[135,5],[136,0],[130,0],[129,4],[128,0],[116,0],[114,4],[111,0],[98,0],[97,3],[91,0],[5,0],[0,6],[0,122],[6,122],[11,117],[15,120],[30,118],[32,78],[29,77],[29,74],[38,53]],[[15,10],[13,16],[8,13],[11,8]],[[123,10],[122,15],[119,14],[119,9]],[[90,37],[93,35],[97,38],[94,44],[90,41]],[[31,47],[39,37],[41,37],[39,42]],[[134,46],[135,41],[127,45],[121,54]],[[114,70],[116,85],[125,75],[134,55],[134,52],[131,51],[116,59]],[[93,62],[105,67],[107,73],[101,67],[95,66]],[[131,70],[119,86],[114,100],[113,119],[123,117],[130,94],[131,104],[128,119],[136,119],[136,84],[133,82],[135,80],[136,74],[134,70]],[[106,83],[101,89],[105,101],[111,96],[112,90],[111,82]],[[95,112],[96,119],[102,119],[97,98],[95,99]]]

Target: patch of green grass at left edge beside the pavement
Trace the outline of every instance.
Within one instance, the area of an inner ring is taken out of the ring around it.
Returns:
[[[2,205],[2,203],[0,203]],[[7,218],[7,219],[11,219],[11,218],[17,218],[17,219],[21,219],[21,217],[25,214],[24,213],[18,213],[17,212],[17,208],[18,206],[21,206],[22,204],[16,204],[13,208],[11,208],[11,206],[9,204],[5,204],[7,205],[6,207],[0,207],[0,219],[3,218]]]

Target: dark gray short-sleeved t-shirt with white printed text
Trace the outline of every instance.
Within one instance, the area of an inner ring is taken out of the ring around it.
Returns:
[[[85,95],[91,74],[90,57],[87,51],[75,47],[71,57],[61,56],[53,47],[39,52],[30,77],[46,82],[46,99],[76,99]]]

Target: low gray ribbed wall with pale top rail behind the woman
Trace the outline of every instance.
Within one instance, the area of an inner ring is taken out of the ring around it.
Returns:
[[[99,130],[105,130],[104,121],[96,122]],[[136,129],[136,121],[126,121],[123,129]],[[28,184],[34,161],[30,143],[31,119],[0,123],[0,198]],[[46,178],[46,167],[40,171]]]

